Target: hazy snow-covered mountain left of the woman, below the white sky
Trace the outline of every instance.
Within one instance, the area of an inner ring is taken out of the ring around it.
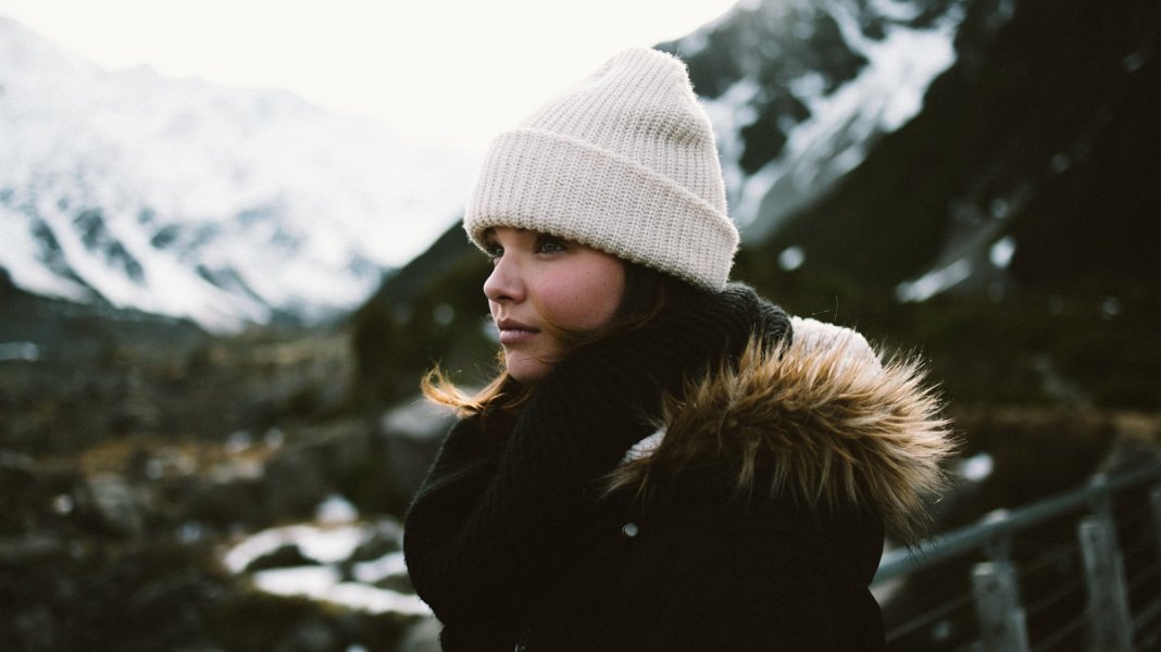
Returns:
[[[349,309],[468,173],[280,90],[107,72],[0,17],[0,268],[214,329]]]

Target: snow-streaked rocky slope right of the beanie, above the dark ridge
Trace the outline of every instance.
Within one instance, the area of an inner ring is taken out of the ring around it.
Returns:
[[[954,0],[738,3],[661,49],[688,61],[749,240],[830,191],[956,61]]]

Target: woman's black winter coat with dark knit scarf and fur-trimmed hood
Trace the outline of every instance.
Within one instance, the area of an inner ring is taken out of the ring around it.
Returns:
[[[944,422],[914,364],[794,324],[731,287],[460,421],[404,530],[444,649],[882,649],[867,587]]]

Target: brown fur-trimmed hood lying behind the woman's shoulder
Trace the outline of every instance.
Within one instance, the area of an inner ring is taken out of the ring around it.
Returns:
[[[813,510],[870,508],[910,541],[953,450],[915,358],[884,360],[854,331],[793,318],[793,339],[751,342],[672,398],[657,434],[613,473],[649,495],[691,468],[727,469],[740,493]]]

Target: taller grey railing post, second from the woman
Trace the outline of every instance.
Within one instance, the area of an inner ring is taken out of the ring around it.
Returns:
[[[1079,528],[1088,586],[1089,649],[1132,652],[1133,621],[1128,613],[1125,563],[1117,550],[1112,523],[1088,517]]]

